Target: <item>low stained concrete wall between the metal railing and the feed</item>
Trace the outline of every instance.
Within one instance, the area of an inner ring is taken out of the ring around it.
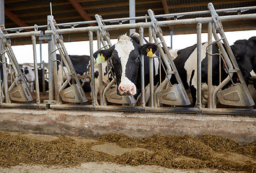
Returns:
[[[134,138],[211,133],[240,144],[256,140],[255,115],[0,109],[0,130],[63,136],[125,133]]]

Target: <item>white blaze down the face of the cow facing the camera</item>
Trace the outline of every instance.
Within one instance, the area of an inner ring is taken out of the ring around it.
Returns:
[[[118,43],[115,44],[115,50],[118,52],[118,57],[120,57],[121,61],[121,66],[122,66],[122,74],[121,74],[121,81],[120,81],[120,86],[128,86],[128,87],[133,87],[133,92],[131,93],[136,94],[136,86],[133,84],[131,80],[129,80],[125,76],[125,68],[126,64],[128,62],[129,55],[132,50],[134,50],[133,43],[131,42],[131,38],[128,37],[127,35],[122,35]]]

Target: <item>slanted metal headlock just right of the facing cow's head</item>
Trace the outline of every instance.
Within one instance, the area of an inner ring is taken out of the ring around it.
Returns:
[[[185,91],[180,76],[177,72],[175,63],[172,61],[172,56],[169,53],[167,44],[164,41],[162,30],[157,24],[156,18],[154,17],[154,12],[149,9],[148,13],[154,29],[154,41],[158,46],[158,50],[160,55],[162,56],[162,60],[167,66],[167,78],[164,79],[162,84],[160,84],[154,92],[154,106],[159,105],[159,103],[163,103],[166,105],[190,105],[190,99],[187,97],[187,92]],[[156,35],[159,36],[160,41],[157,39]],[[171,79],[172,74],[175,75],[178,84],[170,83],[169,80]],[[167,87],[168,84],[170,84],[169,87]],[[159,103],[157,103],[157,101]]]

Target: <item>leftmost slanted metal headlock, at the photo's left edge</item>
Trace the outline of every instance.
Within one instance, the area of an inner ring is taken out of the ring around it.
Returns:
[[[6,40],[6,37],[4,37],[4,32],[1,30],[1,28],[0,28],[0,38],[1,38],[2,46],[4,47],[4,52],[8,55],[9,60],[12,63],[12,68],[14,69],[15,79],[8,89],[9,97],[14,101],[29,102],[32,100],[30,89],[28,88],[27,82],[25,81],[25,78],[22,75],[22,71],[19,68],[19,63],[17,62],[17,59],[14,56],[12,45],[8,43],[8,41]]]

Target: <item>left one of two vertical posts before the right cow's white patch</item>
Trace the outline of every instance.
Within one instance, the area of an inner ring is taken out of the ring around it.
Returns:
[[[202,24],[201,23],[198,23],[197,25],[197,36],[198,36],[198,39],[197,39],[197,44],[198,44],[198,51],[197,51],[197,71],[198,71],[198,75],[196,76],[197,77],[197,107],[199,109],[202,108],[202,102],[201,102],[201,47],[202,47],[202,43],[201,43],[201,32],[202,32]]]

